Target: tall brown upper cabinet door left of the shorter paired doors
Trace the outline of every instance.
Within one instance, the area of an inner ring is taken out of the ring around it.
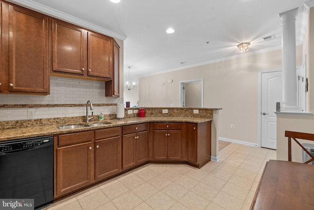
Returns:
[[[48,17],[9,5],[9,91],[49,93]]]

